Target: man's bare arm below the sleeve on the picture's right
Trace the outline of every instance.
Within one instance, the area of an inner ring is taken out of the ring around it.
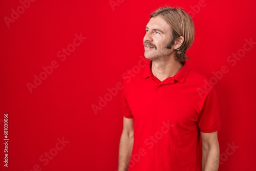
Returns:
[[[202,170],[217,171],[219,168],[220,147],[218,132],[202,133]]]

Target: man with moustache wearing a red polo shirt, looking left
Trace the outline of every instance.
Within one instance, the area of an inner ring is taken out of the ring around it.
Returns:
[[[195,34],[191,17],[179,8],[160,8],[145,30],[148,65],[124,82],[118,170],[217,171],[215,89],[206,90],[206,78],[185,62]]]

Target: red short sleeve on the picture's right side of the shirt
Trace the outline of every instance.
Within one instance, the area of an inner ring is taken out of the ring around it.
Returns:
[[[221,128],[218,101],[215,89],[206,96],[198,116],[198,127],[203,133],[216,132]]]

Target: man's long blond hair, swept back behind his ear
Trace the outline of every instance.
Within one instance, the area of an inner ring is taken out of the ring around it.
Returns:
[[[154,11],[150,18],[161,16],[172,28],[172,40],[170,45],[174,45],[176,38],[183,36],[184,41],[180,48],[176,49],[175,58],[184,62],[188,59],[186,51],[193,44],[195,38],[195,27],[191,17],[182,8],[162,7]]]

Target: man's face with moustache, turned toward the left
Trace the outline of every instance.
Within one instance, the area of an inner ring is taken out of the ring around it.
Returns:
[[[144,41],[144,56],[156,60],[167,58],[174,52],[170,46],[172,29],[161,16],[152,17],[146,25]]]

